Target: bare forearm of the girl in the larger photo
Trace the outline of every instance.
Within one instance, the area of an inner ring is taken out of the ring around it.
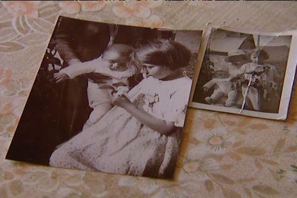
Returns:
[[[131,115],[136,117],[141,123],[146,125],[148,128],[157,131],[160,134],[168,135],[175,128],[174,122],[168,122],[165,120],[158,119],[143,109],[135,106],[125,96],[114,97],[112,100],[113,105],[120,106],[128,111]]]

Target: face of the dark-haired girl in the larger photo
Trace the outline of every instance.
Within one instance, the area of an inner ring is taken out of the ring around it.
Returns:
[[[152,64],[143,65],[143,69],[141,72],[148,73],[148,75],[151,75],[156,79],[163,79],[172,73],[172,71],[165,66],[152,65]]]

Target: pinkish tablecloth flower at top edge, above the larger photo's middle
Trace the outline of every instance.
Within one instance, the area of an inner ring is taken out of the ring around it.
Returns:
[[[161,4],[162,0],[125,0],[115,3],[112,11],[118,17],[128,18],[136,16],[148,18],[151,13],[150,8],[157,7]]]

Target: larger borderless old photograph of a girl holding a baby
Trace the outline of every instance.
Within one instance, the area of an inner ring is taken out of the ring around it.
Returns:
[[[172,178],[201,35],[59,17],[6,159]]]

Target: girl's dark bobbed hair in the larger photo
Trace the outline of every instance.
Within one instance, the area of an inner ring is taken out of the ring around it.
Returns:
[[[158,40],[136,49],[132,53],[131,64],[138,69],[144,64],[165,66],[171,70],[186,67],[191,51],[171,40]]]

